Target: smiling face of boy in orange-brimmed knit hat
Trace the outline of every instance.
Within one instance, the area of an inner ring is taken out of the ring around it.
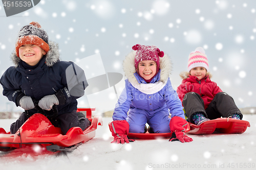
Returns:
[[[18,49],[19,57],[30,66],[36,65],[46,54],[41,47],[34,44],[25,44]]]

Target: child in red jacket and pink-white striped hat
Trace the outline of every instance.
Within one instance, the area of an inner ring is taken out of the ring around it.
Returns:
[[[231,96],[210,80],[208,60],[202,47],[189,54],[187,69],[188,72],[180,74],[183,81],[177,93],[188,122],[200,125],[221,116],[242,119],[243,115]]]

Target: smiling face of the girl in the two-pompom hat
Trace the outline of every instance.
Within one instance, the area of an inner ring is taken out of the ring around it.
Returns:
[[[138,70],[142,78],[150,80],[156,74],[157,64],[153,60],[143,60],[139,62]]]

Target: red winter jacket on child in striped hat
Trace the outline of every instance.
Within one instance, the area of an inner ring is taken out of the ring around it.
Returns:
[[[182,72],[180,75],[182,80],[181,85],[177,88],[177,93],[181,102],[186,93],[196,92],[198,93],[204,101],[204,109],[208,107],[210,102],[214,99],[214,96],[218,92],[222,92],[217,83],[210,80],[210,75],[206,75],[203,79],[199,81],[196,76],[191,76],[189,72]]]

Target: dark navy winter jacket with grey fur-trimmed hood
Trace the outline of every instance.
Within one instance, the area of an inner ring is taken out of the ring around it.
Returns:
[[[4,89],[3,94],[7,96],[9,101],[16,103],[16,106],[19,106],[19,100],[24,95],[39,101],[46,95],[55,94],[59,100],[57,106],[59,114],[71,112],[77,109],[76,99],[82,95],[73,96],[70,94],[66,71],[69,66],[71,66],[69,68],[72,68],[74,74],[75,68],[82,69],[73,62],[60,61],[56,43],[49,41],[49,46],[49,52],[34,69],[26,69],[15,53],[11,55],[15,66],[9,67],[0,80]],[[82,86],[82,92],[88,86],[85,76],[83,80],[85,81],[79,84]],[[29,112],[36,113],[37,110],[31,109]]]

